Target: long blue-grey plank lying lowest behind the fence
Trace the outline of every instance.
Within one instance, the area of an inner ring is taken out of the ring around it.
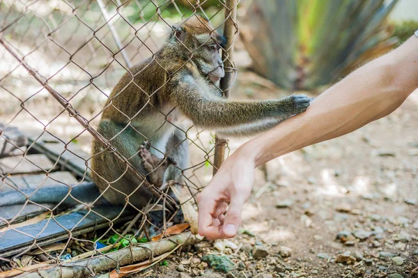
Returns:
[[[80,210],[68,215],[54,217],[54,219],[45,219],[36,224],[19,227],[15,230],[7,230],[0,233],[0,257],[5,258],[29,251],[37,245],[43,246],[52,241],[64,240],[69,235],[75,237],[94,229],[100,229],[109,226],[109,220],[113,224],[117,222],[126,222],[132,219],[133,213],[123,208],[107,206],[92,208],[91,211]],[[68,232],[71,230],[71,234]]]

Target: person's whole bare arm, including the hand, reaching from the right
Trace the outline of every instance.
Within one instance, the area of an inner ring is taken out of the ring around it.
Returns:
[[[238,148],[199,194],[199,234],[208,238],[235,235],[254,183],[255,167],[387,116],[417,87],[418,38],[414,36],[319,95],[303,114]]]

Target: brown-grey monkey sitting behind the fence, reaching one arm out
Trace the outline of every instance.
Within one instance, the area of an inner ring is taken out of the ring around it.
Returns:
[[[268,130],[309,107],[310,98],[304,95],[256,101],[222,98],[216,84],[224,76],[219,45],[225,40],[211,31],[200,16],[174,27],[153,58],[123,75],[105,105],[98,132],[157,187],[179,180],[187,167],[185,132],[172,124],[178,126],[183,117],[217,134],[236,137]],[[146,140],[152,143],[153,155],[141,145]],[[91,169],[110,203],[123,205],[129,196],[140,209],[152,196],[144,185],[137,188],[142,180],[98,141],[93,141]]]

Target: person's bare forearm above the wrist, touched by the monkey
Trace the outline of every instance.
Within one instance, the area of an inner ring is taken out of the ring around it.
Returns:
[[[418,87],[418,38],[410,38],[318,96],[303,114],[249,141],[237,155],[256,166],[293,150],[353,132],[394,111]]]

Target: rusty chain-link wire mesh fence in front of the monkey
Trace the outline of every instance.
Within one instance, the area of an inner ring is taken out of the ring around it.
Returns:
[[[225,76],[211,86],[228,96],[236,5],[0,1],[0,277],[119,272],[155,263],[187,240],[180,205],[208,183],[226,142],[160,105],[173,75],[206,45],[188,49],[176,70],[164,68],[160,49],[187,22],[197,20],[211,38],[224,34],[216,47]],[[163,77],[152,79],[147,67]],[[132,103],[141,105],[123,110]]]

